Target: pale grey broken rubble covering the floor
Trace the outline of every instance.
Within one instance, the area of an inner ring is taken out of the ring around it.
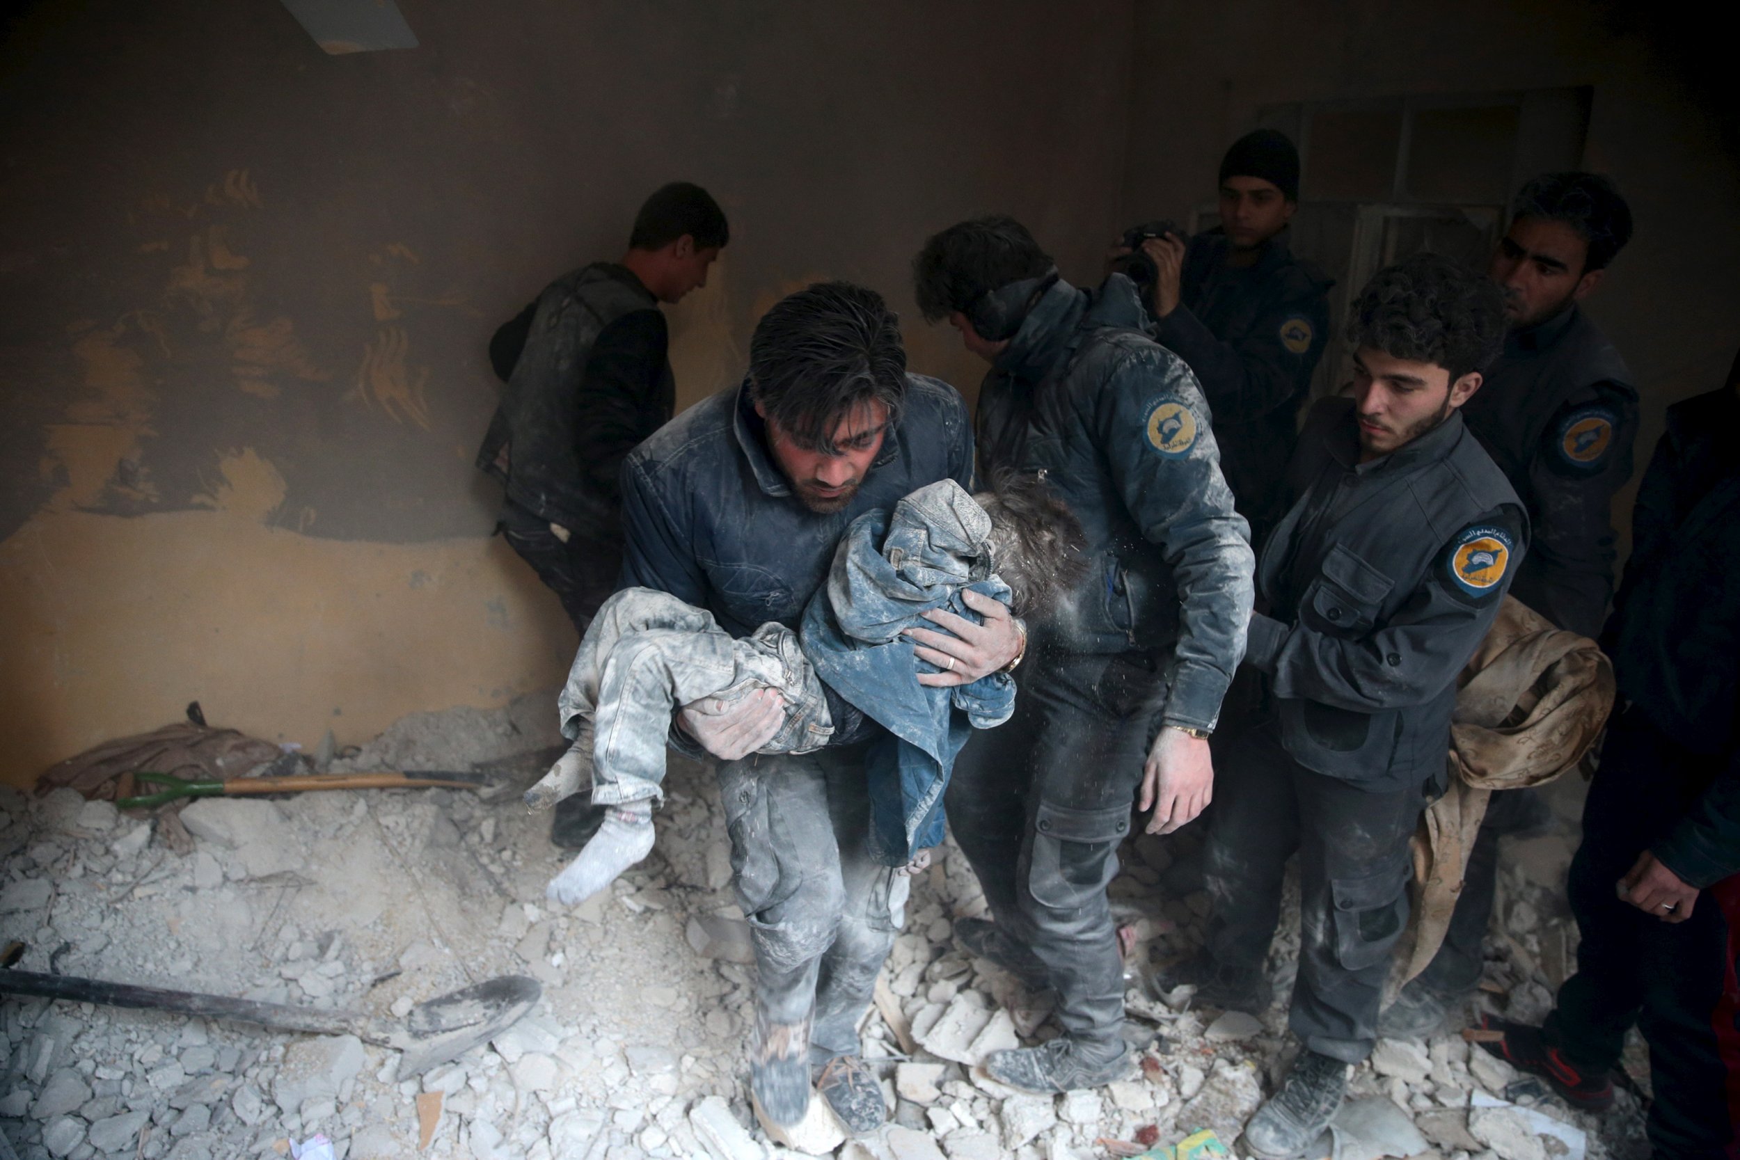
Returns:
[[[418,715],[332,767],[485,765],[529,783],[560,744],[552,725],[550,697]],[[682,762],[668,788],[652,857],[566,913],[543,896],[562,864],[548,817],[512,793],[200,800],[181,812],[188,849],[171,828],[70,790],[0,791],[0,939],[24,943],[21,969],[395,1016],[499,974],[545,984],[539,1009],[489,1047],[405,1080],[395,1052],[355,1037],[9,998],[0,1132],[21,1157],[57,1160],[280,1157],[315,1134],[339,1160],[769,1160],[793,1150],[1065,1160],[1110,1155],[1101,1139],[1168,1143],[1199,1129],[1232,1146],[1282,1071],[1284,1010],[1199,1012],[1187,995],[1171,1007],[1141,995],[1133,969],[1138,1073],[1056,1099],[997,1085],[978,1063],[1053,1033],[1049,1005],[954,944],[954,920],[981,913],[983,899],[948,847],[914,883],[865,1026],[894,1123],[846,1143],[818,1106],[769,1141],[741,1080],[752,967],[717,790]],[[1112,894],[1131,962],[1187,953],[1206,897],[1161,897],[1166,843],[1143,838],[1124,854]],[[1510,934],[1488,974],[1528,1017],[1563,977],[1566,920],[1521,870],[1503,904]],[[1282,995],[1295,948],[1296,930],[1272,960]],[[1629,1094],[1601,1122],[1573,1117],[1460,1037],[1380,1043],[1354,1096],[1343,1158],[1547,1160],[1575,1157],[1585,1134],[1590,1157],[1643,1153]],[[1529,1113],[1571,1130],[1542,1136]]]

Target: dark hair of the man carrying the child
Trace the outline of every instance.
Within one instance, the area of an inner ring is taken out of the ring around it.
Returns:
[[[755,323],[750,398],[799,447],[832,452],[840,419],[872,402],[893,424],[905,397],[900,318],[875,290],[818,282]]]

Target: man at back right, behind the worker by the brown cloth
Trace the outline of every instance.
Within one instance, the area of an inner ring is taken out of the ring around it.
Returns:
[[[1613,496],[1630,480],[1637,390],[1580,303],[1630,238],[1625,200],[1597,174],[1545,174],[1512,205],[1488,268],[1509,334],[1463,421],[1528,510],[1531,543],[1510,590],[1557,628],[1599,638],[1613,595]],[[1444,944],[1383,1012],[1383,1035],[1427,1037],[1481,981],[1498,838],[1538,828],[1533,790],[1495,793]]]

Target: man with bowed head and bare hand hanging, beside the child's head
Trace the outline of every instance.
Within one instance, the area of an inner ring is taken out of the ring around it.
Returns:
[[[994,367],[981,470],[1044,473],[1088,536],[1088,581],[1035,624],[1014,718],[967,744],[947,809],[995,917],[959,937],[1058,991],[1063,1035],[987,1070],[1027,1092],[1096,1087],[1131,1064],[1105,887],[1133,803],[1169,833],[1213,793],[1208,736],[1251,607],[1246,523],[1195,376],[1143,332],[1124,275],[1077,290],[1009,217],[938,233],[914,275],[924,317]]]

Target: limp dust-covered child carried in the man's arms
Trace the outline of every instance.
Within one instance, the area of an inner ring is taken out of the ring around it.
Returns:
[[[1047,605],[1072,584],[1079,544],[1081,529],[1039,480],[1014,478],[978,496],[943,480],[901,499],[893,515],[870,513],[853,523],[828,584],[804,614],[802,633],[767,623],[750,637],[733,638],[710,612],[668,593],[628,588],[612,595],[586,630],[559,701],[562,732],[574,744],[525,793],[527,805],[546,809],[590,779],[592,800],[609,807],[599,833],[550,882],[552,901],[581,903],[652,850],[652,805],[663,798],[665,746],[677,708],[773,690],[785,715],[773,739],[755,751],[820,750],[842,722],[828,708],[818,663],[839,673],[840,664],[851,664],[842,657],[856,656],[854,673],[875,673],[879,666],[886,673],[886,650],[898,649],[905,661],[900,671],[915,673],[905,631],[929,626],[926,610],[966,612],[959,593],[969,586],[1016,614]],[[867,666],[867,650],[884,652]],[[858,692],[860,701],[873,699],[861,696],[861,680]],[[943,720],[948,706],[974,727],[997,725],[1013,711],[1013,682],[1004,673],[927,692],[943,694]],[[842,696],[835,704],[844,704]],[[910,729],[901,725],[914,723],[910,713],[889,720],[879,711],[884,708],[856,704],[908,737]],[[952,750],[941,757],[943,781],[948,762]],[[940,791],[934,797],[940,812]],[[914,837],[914,824],[905,830]]]

